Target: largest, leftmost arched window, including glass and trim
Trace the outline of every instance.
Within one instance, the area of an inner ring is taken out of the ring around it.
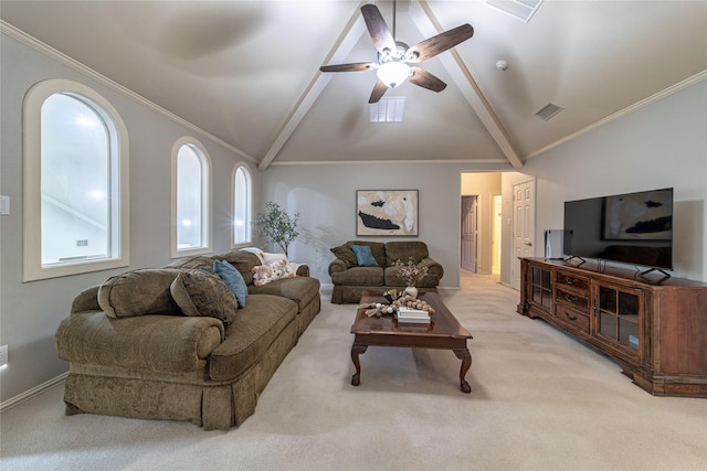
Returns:
[[[125,267],[128,135],[83,84],[50,79],[24,99],[25,281]]]

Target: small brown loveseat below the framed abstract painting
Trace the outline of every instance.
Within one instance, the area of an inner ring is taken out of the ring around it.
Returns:
[[[428,245],[421,240],[368,242],[349,240],[330,249],[336,258],[329,264],[329,276],[334,283],[331,302],[335,304],[356,303],[363,291],[387,291],[404,289],[405,281],[393,266],[422,263],[428,275],[415,285],[418,291],[434,291],[444,275],[444,268],[430,257]]]

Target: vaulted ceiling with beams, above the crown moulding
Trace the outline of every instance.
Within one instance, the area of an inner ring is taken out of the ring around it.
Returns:
[[[707,1],[545,0],[528,22],[482,0],[377,1],[408,44],[463,23],[474,36],[421,64],[402,122],[369,122],[368,2],[2,0],[33,36],[224,142],[273,164],[526,159],[707,78]],[[504,71],[498,61],[508,64]],[[535,116],[548,104],[563,109]]]

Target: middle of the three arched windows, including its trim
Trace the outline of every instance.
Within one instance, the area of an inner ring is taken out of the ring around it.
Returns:
[[[211,251],[211,161],[204,147],[182,138],[172,149],[172,257]]]

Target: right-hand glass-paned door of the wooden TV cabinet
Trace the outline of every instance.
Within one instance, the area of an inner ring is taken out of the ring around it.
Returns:
[[[599,333],[604,338],[639,350],[639,312],[641,292],[599,286]]]

